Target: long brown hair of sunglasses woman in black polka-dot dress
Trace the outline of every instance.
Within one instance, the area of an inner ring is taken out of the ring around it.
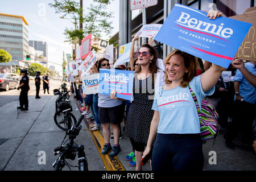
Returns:
[[[150,68],[149,68],[150,69],[150,73],[152,74],[152,80],[154,80],[154,73],[156,73],[158,71],[158,69],[159,69],[158,65],[156,64],[156,62],[158,60],[158,55],[157,55],[157,53],[155,51],[155,48],[150,46],[149,44],[143,44],[141,46],[141,48],[142,47],[148,48],[148,52],[150,52],[150,54],[154,56],[154,58],[150,61]],[[135,62],[136,61],[134,61],[134,63]],[[135,71],[135,73],[139,73],[139,72],[141,72],[141,65],[140,64],[138,65],[138,70]]]

